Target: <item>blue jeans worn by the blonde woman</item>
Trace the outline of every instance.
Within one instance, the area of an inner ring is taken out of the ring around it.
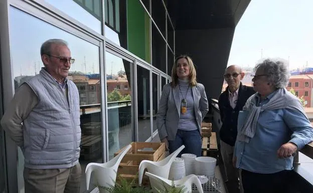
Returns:
[[[197,157],[200,157],[202,145],[199,130],[177,130],[175,140],[169,140],[170,154],[176,151],[182,145],[185,145],[185,148],[178,154],[177,157],[181,157],[181,155],[184,153],[192,153],[197,155]]]

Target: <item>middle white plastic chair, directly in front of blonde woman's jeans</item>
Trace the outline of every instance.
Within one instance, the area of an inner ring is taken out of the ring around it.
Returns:
[[[138,171],[138,182],[141,185],[142,177],[144,169],[146,168],[148,172],[153,173],[155,175],[169,178],[170,168],[172,162],[174,161],[175,157],[185,148],[185,145],[182,145],[176,151],[174,151],[171,155],[167,156],[165,159],[161,161],[150,161],[150,160],[142,160],[139,164],[139,171]],[[150,180],[150,184],[153,181]],[[152,184],[151,184],[152,185]]]

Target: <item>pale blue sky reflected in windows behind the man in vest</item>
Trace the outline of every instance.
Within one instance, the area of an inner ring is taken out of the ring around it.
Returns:
[[[1,1],[1,0],[0,0]],[[46,0],[48,3],[65,12],[71,7],[67,14],[88,26],[95,32],[100,32],[101,23],[90,17],[84,9],[73,1]],[[75,11],[73,11],[75,10]],[[75,63],[71,65],[70,71],[80,71],[84,73],[100,73],[100,48],[99,45],[92,44],[78,36],[65,32],[55,26],[48,24],[38,18],[26,14],[16,8],[10,9],[10,49],[11,62],[13,64],[13,76],[33,76],[38,74],[43,67],[40,57],[40,47],[48,39],[58,38],[66,40],[71,50],[71,56]],[[106,28],[106,31],[110,30]],[[23,33],[21,33],[23,32]],[[116,33],[107,33],[110,40],[119,45]],[[117,74],[119,70],[124,71],[122,59],[106,53],[107,74]]]

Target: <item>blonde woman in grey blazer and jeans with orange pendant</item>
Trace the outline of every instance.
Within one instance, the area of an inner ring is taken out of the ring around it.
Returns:
[[[185,145],[182,153],[201,156],[201,122],[207,114],[208,100],[204,86],[196,81],[192,59],[176,58],[172,82],[165,85],[156,114],[156,124],[162,142],[170,153]]]

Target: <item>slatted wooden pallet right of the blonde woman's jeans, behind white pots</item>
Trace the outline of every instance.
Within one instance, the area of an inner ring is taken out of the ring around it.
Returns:
[[[202,137],[202,155],[203,156],[218,156],[216,132],[212,132],[210,137]]]

